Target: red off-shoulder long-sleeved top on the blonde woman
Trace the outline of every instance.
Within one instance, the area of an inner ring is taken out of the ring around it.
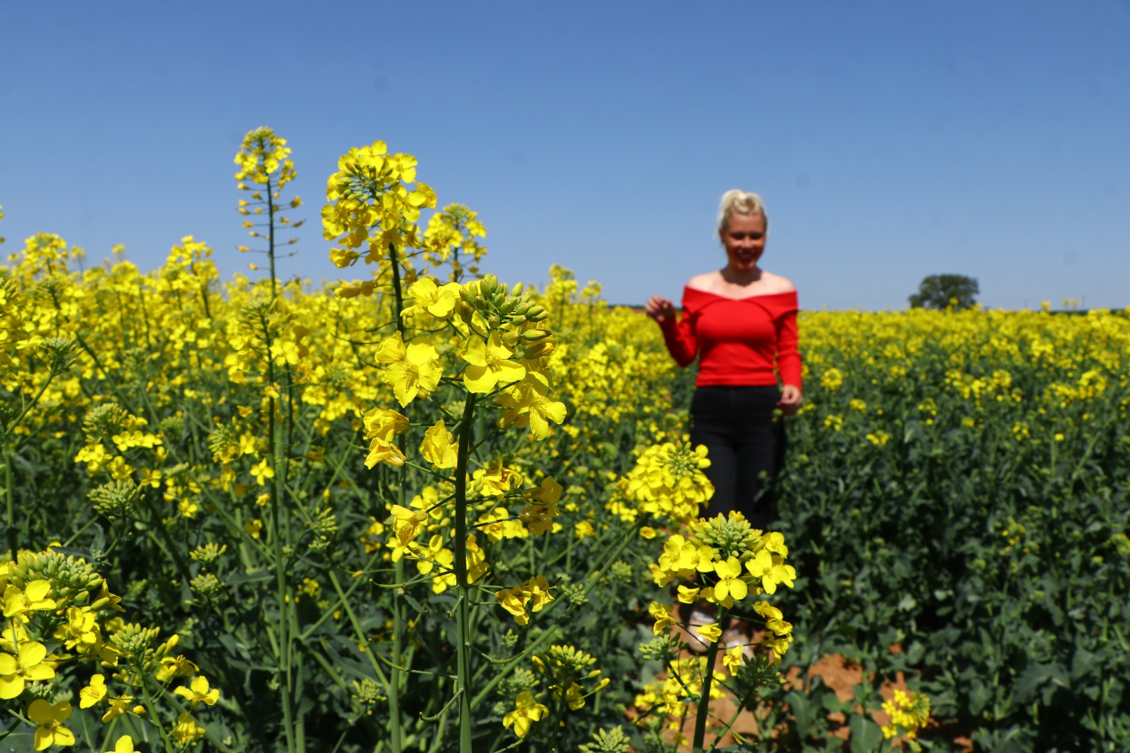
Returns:
[[[801,386],[797,350],[797,291],[727,298],[687,287],[683,317],[660,326],[667,349],[679,366],[698,360],[701,387],[712,385]]]

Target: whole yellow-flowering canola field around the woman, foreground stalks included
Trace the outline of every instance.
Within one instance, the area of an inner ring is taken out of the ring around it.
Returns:
[[[0,268],[0,750],[1130,747],[1125,314],[802,313],[756,531],[704,517],[642,314],[487,274],[381,142],[311,221],[348,281],[284,282],[293,157],[236,165],[259,279],[192,237]]]

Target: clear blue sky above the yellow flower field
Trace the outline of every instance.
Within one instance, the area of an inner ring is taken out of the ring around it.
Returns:
[[[1130,0],[0,0],[0,103],[8,253],[47,231],[150,269],[191,234],[245,271],[232,158],[270,125],[306,202],[288,275],[340,277],[325,178],[382,139],[480,212],[503,280],[678,298],[742,187],[805,308],[941,272],[993,307],[1130,303]]]

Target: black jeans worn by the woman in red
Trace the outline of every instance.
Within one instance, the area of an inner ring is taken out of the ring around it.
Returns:
[[[784,464],[784,421],[773,420],[781,400],[776,386],[697,387],[690,401],[690,444],[706,445],[714,484],[709,517],[738,510],[765,531],[773,507],[773,482]]]

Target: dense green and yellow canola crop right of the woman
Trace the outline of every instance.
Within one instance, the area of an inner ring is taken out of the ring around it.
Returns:
[[[913,316],[822,334],[776,525],[803,542],[785,660],[916,674],[977,750],[1123,750],[1130,321],[966,313],[920,339]]]

